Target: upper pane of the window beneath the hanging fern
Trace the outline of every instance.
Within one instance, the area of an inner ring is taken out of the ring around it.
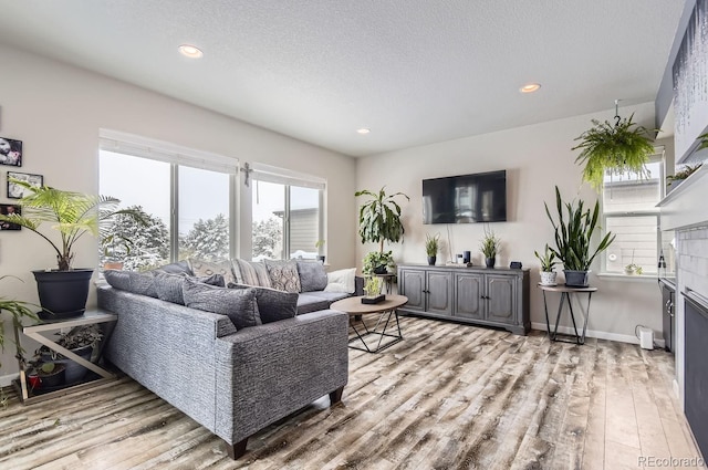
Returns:
[[[662,161],[648,164],[648,178],[634,174],[605,175],[603,210],[610,212],[658,211],[662,198]]]

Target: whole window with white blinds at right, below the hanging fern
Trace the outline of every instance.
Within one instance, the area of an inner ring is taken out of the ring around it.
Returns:
[[[616,238],[604,254],[604,271],[624,273],[635,264],[642,274],[656,274],[660,238],[659,210],[656,207],[664,192],[664,161],[655,155],[647,165],[649,175],[605,176],[602,194],[603,231]]]

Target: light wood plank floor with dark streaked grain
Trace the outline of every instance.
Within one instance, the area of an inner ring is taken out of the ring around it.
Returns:
[[[621,470],[698,456],[664,351],[416,317],[402,327],[405,340],[382,353],[351,351],[343,404],[324,397],[268,427],[238,461],[122,378],[27,407],[12,398],[0,469]]]

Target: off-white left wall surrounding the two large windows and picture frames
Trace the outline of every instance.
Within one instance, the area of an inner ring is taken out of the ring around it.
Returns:
[[[97,192],[98,129],[122,130],[326,178],[327,262],[333,269],[354,264],[353,158],[14,49],[0,46],[0,63],[9,64],[0,82],[0,136],[22,140],[24,150],[21,168],[0,167],[0,201],[10,202],[7,170],[44,175],[45,185],[62,189]],[[250,223],[244,229],[250,231]],[[96,253],[96,241],[83,240],[74,265],[97,265]],[[54,257],[39,237],[27,230],[0,233],[0,275],[24,281],[3,280],[0,295],[38,302],[30,271],[53,267]],[[10,337],[7,318],[6,327]],[[13,345],[0,361],[2,384],[2,376],[17,372]]]

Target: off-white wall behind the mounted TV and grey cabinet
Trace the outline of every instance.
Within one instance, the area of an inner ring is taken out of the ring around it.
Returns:
[[[645,103],[621,109],[623,116],[635,112],[635,122],[653,123],[654,104]],[[581,167],[574,160],[577,152],[571,152],[574,138],[592,126],[591,119],[611,119],[614,109],[594,115],[542,123],[493,134],[444,142],[424,147],[392,152],[360,159],[357,189],[378,190],[386,185],[388,192],[402,191],[410,197],[403,205],[406,228],[404,243],[391,246],[396,262],[426,263],[424,241],[426,233],[439,232],[445,246],[438,254],[438,263],[448,257],[447,230],[450,231],[452,255],[462,250],[472,251],[472,262],[482,264],[479,241],[483,234],[480,223],[424,226],[421,222],[421,180],[424,178],[461,175],[467,173],[507,170],[508,221],[489,227],[502,239],[502,252],[498,265],[509,265],[511,260],[531,268],[531,322],[544,327],[543,297],[535,289],[540,281],[539,261],[533,250],[553,244],[553,230],[545,215],[548,201],[555,213],[554,186],[559,186],[564,199],[579,194],[594,203],[597,194],[587,185],[581,186]],[[356,201],[361,203],[361,201]],[[373,246],[358,246],[357,260]],[[598,263],[593,267],[596,273]],[[562,274],[561,274],[562,275]],[[628,280],[592,275],[591,285],[598,292],[592,299],[589,335],[621,341],[634,341],[637,324],[652,327],[660,337],[660,295],[656,280]],[[584,299],[583,299],[584,301]],[[553,297],[552,312],[558,300]],[[570,324],[569,322],[564,322]]]

